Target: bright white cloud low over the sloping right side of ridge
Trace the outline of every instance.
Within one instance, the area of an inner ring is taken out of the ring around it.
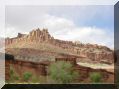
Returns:
[[[113,34],[107,33],[105,29],[96,27],[75,27],[74,29],[67,31],[65,35],[59,35],[57,38],[65,40],[81,41],[83,43],[93,43],[106,45],[113,48]]]

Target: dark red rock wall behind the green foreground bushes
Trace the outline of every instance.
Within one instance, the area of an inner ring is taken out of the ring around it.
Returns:
[[[69,59],[67,60],[70,61]],[[60,61],[60,60],[57,60],[57,61]],[[50,65],[50,63],[51,62],[46,62],[46,61],[45,62],[29,62],[29,61],[18,61],[18,60],[6,60],[5,61],[5,64],[6,64],[5,65],[5,79],[6,80],[10,79],[10,74],[9,74],[10,66],[14,68],[14,72],[19,74],[20,77],[22,77],[25,72],[30,72],[37,77],[39,77],[39,75],[46,76],[48,75],[47,68]],[[91,73],[97,72],[102,75],[102,79],[105,83],[114,83],[113,72],[109,72],[103,69],[92,69],[92,68],[80,66],[77,64],[75,64],[73,68],[75,71],[79,72],[80,74],[80,77],[77,77],[76,79],[77,81],[88,80],[88,77],[90,76]],[[109,80],[110,77],[113,79]]]

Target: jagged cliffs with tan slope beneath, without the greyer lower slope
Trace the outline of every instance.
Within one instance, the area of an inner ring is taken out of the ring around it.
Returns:
[[[6,49],[8,48],[31,48],[56,53],[66,53],[69,55],[82,56],[85,60],[92,62],[106,61],[113,63],[113,51],[97,44],[82,44],[80,42],[58,40],[52,37],[47,29],[35,29],[29,34],[18,33],[15,38],[5,39]]]

